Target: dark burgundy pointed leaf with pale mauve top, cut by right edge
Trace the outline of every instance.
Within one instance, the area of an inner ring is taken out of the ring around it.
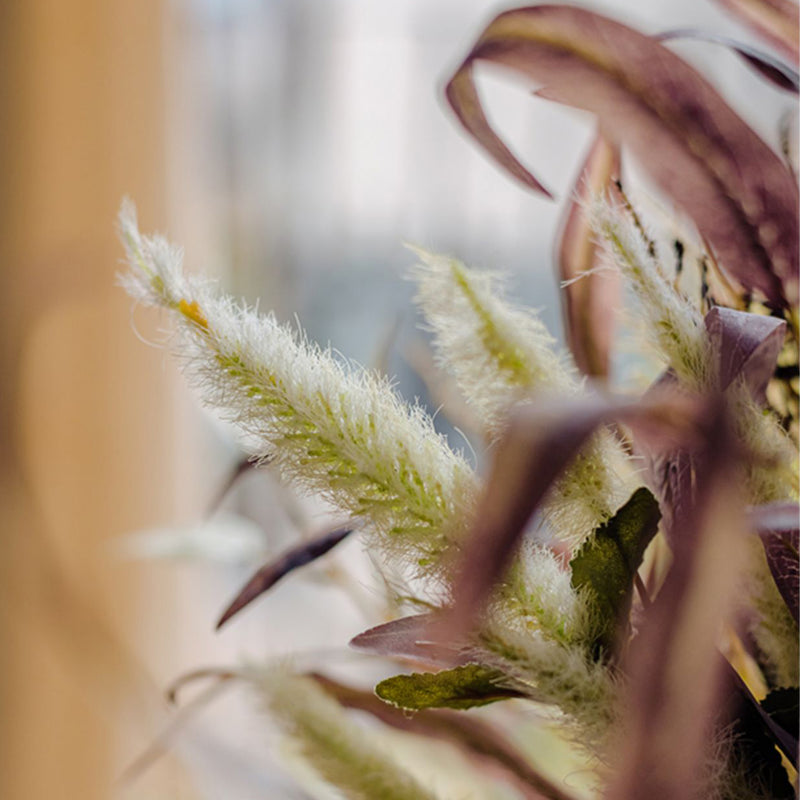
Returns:
[[[750,520],[761,536],[772,577],[794,621],[800,617],[800,507],[797,503],[758,506]]]

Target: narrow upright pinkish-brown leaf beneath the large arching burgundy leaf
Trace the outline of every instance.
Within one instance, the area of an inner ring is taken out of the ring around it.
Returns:
[[[564,220],[558,248],[558,273],[567,341],[575,363],[585,375],[608,377],[614,315],[620,278],[616,271],[592,273],[598,266],[586,203],[603,194],[619,175],[619,150],[595,137],[581,170]]]

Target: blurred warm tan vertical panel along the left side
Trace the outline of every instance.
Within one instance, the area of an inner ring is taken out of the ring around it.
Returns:
[[[134,340],[113,288],[120,197],[136,198],[148,228],[165,227],[162,6],[0,3],[0,796],[10,800],[111,796],[121,698],[138,712],[155,697],[125,652],[136,649],[139,576],[110,562],[106,544],[173,512],[171,373]]]

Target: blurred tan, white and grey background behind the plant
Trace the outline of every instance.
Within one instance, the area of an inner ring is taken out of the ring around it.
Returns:
[[[758,44],[711,0],[583,4],[645,32],[696,26]],[[213,632],[254,566],[321,512],[246,475],[198,528],[239,452],[148,346],[158,316],[115,287],[114,218],[129,195],[142,229],[181,243],[189,269],[297,314],[311,338],[398,375],[410,398],[426,396],[430,363],[404,242],[509,272],[560,336],[553,245],[591,120],[482,74],[493,118],[553,203],[489,164],[441,101],[500,8],[0,4],[3,798],[294,796],[241,697],[199,712],[165,757],[124,777],[167,729],[172,679],[309,648],[343,658],[373,590],[342,592],[331,567]],[[723,48],[675,49],[777,147],[790,101]],[[347,548],[339,558],[357,558]]]

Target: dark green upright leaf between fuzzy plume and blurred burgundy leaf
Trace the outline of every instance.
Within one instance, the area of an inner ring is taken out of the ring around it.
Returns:
[[[658,502],[641,487],[570,562],[573,587],[594,595],[601,620],[593,642],[598,657],[611,652],[619,626],[627,620],[634,576],[660,519]]]

